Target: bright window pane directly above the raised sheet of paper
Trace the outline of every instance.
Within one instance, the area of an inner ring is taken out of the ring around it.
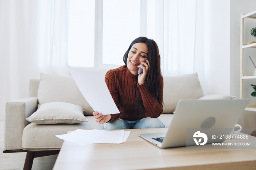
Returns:
[[[95,0],[69,1],[68,65],[94,66]]]

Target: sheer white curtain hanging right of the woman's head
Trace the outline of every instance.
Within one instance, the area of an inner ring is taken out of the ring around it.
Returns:
[[[147,36],[158,44],[163,76],[197,73],[204,89],[204,0],[147,0],[147,5],[155,16],[148,18]]]

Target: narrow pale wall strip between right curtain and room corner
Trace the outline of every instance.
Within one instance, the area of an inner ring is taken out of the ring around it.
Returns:
[[[205,95],[230,93],[230,2],[204,1]]]

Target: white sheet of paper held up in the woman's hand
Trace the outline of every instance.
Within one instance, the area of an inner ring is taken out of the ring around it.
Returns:
[[[81,70],[67,65],[83,97],[103,115],[120,113],[101,72]]]

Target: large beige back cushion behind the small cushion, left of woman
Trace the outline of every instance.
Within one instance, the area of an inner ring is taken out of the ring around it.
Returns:
[[[38,87],[38,103],[62,101],[80,105],[84,115],[92,115],[93,108],[85,100],[72,76],[59,76],[41,73]]]

